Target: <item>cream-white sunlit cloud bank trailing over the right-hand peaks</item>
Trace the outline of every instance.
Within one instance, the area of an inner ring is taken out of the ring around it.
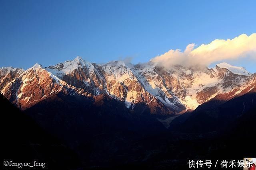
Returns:
[[[256,33],[250,36],[242,34],[234,39],[216,39],[209,44],[195,47],[196,45],[192,43],[187,45],[184,51],[171,49],[150,61],[169,68],[176,64],[208,66],[211,63],[224,60],[234,60],[242,57],[256,58]]]

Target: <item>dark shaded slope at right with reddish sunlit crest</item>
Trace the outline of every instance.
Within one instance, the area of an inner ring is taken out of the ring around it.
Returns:
[[[188,116],[181,116],[179,122],[174,121],[170,125],[172,131],[187,133],[225,133],[230,132],[240,121],[246,117],[255,117],[256,110],[256,86],[245,94],[236,96],[230,100],[216,96],[210,101],[200,105]],[[178,120],[178,119],[177,119]],[[244,127],[246,128],[246,126]]]

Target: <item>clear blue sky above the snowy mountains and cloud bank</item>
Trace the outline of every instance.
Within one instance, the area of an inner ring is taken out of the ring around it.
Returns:
[[[0,67],[78,55],[147,62],[190,43],[255,33],[255,11],[256,0],[0,0]],[[256,72],[255,61],[241,64]]]

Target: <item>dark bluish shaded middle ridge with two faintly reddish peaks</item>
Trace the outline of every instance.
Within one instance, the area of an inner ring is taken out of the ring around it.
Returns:
[[[109,163],[138,137],[166,131],[156,119],[130,112],[107,94],[87,98],[59,93],[25,112],[74,149],[86,165]]]

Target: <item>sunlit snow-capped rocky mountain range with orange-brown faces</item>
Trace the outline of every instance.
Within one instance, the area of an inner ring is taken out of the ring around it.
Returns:
[[[130,110],[169,115],[223,95],[226,99],[255,88],[255,74],[227,63],[214,68],[165,68],[155,63],[127,64],[111,61],[95,64],[76,57],[54,66],[35,64],[0,69],[0,92],[26,109],[60,92],[93,98],[108,94]],[[245,91],[244,91],[245,90]]]

